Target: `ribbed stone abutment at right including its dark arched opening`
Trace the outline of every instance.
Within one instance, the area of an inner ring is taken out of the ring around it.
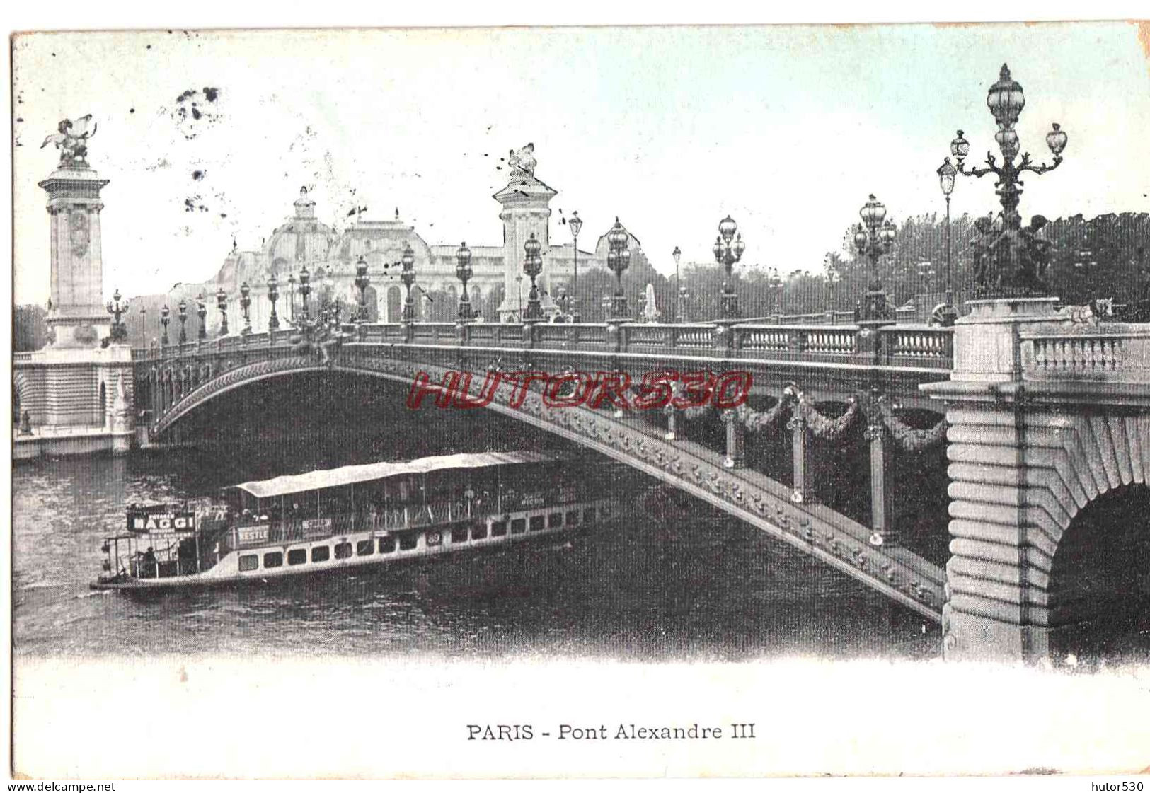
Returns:
[[[948,418],[948,655],[1150,659],[1150,415]]]

